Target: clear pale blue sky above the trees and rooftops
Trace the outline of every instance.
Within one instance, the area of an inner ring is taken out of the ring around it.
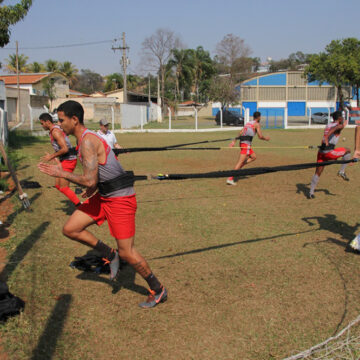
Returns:
[[[5,0],[3,5],[17,1]],[[360,38],[360,0],[34,0],[26,18],[12,27],[0,61],[20,53],[29,62],[71,61],[79,70],[120,72],[120,52],[105,44],[25,50],[119,38],[124,31],[131,64],[139,73],[141,44],[158,28],[174,31],[189,48],[202,45],[213,56],[232,33],[245,40],[251,56],[274,60],[302,51],[318,53],[331,40]]]

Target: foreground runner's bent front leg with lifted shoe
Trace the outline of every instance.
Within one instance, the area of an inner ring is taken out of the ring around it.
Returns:
[[[68,219],[63,227],[63,234],[69,239],[76,240],[97,251],[110,266],[110,280],[115,279],[120,266],[119,255],[116,250],[98,240],[86,228],[95,224],[96,221],[83,211],[76,210]]]

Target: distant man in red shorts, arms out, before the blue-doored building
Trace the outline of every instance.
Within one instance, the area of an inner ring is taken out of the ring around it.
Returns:
[[[258,138],[260,140],[266,140],[266,141],[270,140],[270,137],[263,136],[263,134],[261,133],[260,120],[261,120],[261,113],[259,111],[255,111],[253,114],[253,120],[249,121],[240,132],[239,134],[240,155],[234,170],[239,170],[243,166],[250,164],[252,161],[256,160],[256,154],[251,148],[252,139],[256,134],[258,135]],[[235,145],[235,142],[236,140],[234,140],[230,144],[230,146],[233,147]],[[226,180],[226,183],[228,185],[236,185],[233,176],[229,177]]]

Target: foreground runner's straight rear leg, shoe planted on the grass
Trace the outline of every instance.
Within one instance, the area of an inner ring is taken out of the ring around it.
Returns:
[[[121,259],[131,265],[142,276],[150,287],[150,295],[147,301],[140,304],[143,308],[151,308],[167,299],[167,291],[152,273],[149,264],[134,247],[134,237],[116,240]]]

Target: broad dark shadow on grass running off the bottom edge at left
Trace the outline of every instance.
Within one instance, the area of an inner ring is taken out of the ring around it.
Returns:
[[[62,294],[56,303],[38,345],[32,353],[32,360],[50,360],[53,358],[57,340],[60,337],[71,305],[72,296]]]

